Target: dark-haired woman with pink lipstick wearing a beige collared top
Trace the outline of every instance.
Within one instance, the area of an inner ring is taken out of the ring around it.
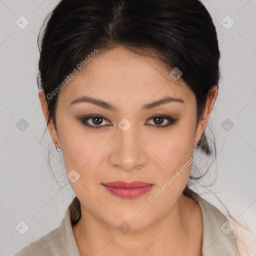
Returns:
[[[22,255],[239,255],[189,189],[210,155],[216,30],[199,0],[61,0],[40,41],[39,98],[76,197]]]

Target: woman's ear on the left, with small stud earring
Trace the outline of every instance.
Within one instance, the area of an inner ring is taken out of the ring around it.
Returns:
[[[43,89],[39,91],[38,96],[39,96],[39,99],[40,99],[40,102],[41,102],[42,112],[43,112],[45,121],[47,123],[48,116],[49,116],[49,111],[48,111],[48,104],[47,104],[47,100],[46,100],[45,93],[44,93]],[[53,124],[52,120],[50,120],[50,122],[48,123],[47,127],[48,127],[48,130],[49,130],[49,133],[50,133],[50,137],[51,137],[52,143],[55,146],[59,146],[60,147],[58,133],[57,133],[55,127],[54,127],[54,124]]]

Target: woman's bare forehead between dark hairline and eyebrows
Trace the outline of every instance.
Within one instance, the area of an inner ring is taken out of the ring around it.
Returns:
[[[128,104],[132,99],[146,102],[169,95],[188,102],[193,92],[169,71],[157,58],[118,46],[92,57],[58,96],[66,102],[85,94]]]

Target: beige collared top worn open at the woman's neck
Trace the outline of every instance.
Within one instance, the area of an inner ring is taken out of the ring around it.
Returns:
[[[226,222],[226,217],[194,191],[187,189],[184,194],[194,199],[201,208],[203,224],[202,256],[240,256],[234,234],[228,222]],[[37,241],[31,242],[14,256],[35,255],[81,256],[72,231],[69,207],[57,228]]]

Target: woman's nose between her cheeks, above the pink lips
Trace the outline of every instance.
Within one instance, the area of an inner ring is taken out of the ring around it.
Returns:
[[[117,127],[116,132],[111,141],[109,164],[125,171],[145,166],[150,150],[146,146],[148,141],[144,141],[146,138],[139,133],[136,125],[131,125],[126,131]]]

